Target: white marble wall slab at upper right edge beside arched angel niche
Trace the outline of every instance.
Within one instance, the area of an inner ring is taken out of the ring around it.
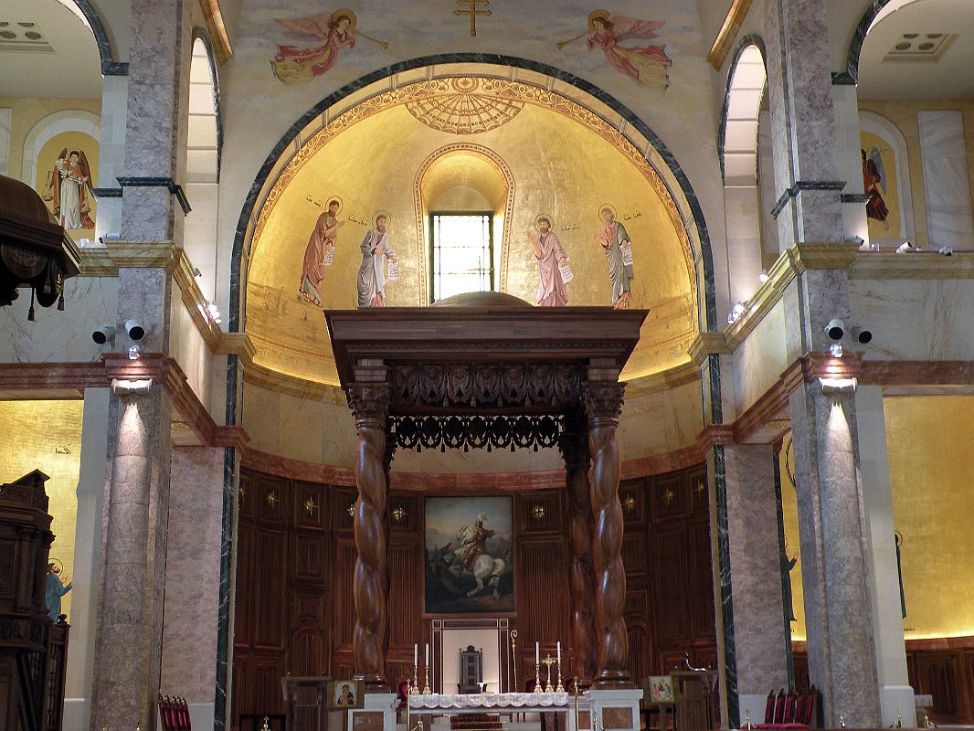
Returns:
[[[971,249],[974,219],[961,114],[920,111],[917,121],[930,248]]]

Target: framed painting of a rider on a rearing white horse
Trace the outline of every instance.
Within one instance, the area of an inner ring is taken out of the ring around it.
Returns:
[[[510,497],[426,499],[427,614],[514,611]]]

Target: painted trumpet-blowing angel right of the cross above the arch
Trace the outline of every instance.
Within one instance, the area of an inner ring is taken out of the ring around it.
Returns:
[[[606,60],[619,73],[625,74],[641,87],[666,89],[669,86],[669,68],[673,59],[666,55],[665,45],[634,45],[634,40],[658,38],[656,30],[665,20],[641,20],[619,16],[607,10],[594,10],[588,14],[588,31],[558,44],[561,50],[573,41],[585,36],[589,51],[602,50]],[[625,43],[626,45],[619,45]]]

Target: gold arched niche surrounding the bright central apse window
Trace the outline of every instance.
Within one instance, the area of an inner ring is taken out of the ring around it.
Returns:
[[[424,161],[413,186],[416,206],[417,261],[420,277],[430,282],[432,212],[492,212],[494,215],[494,271],[498,289],[505,288],[506,257],[510,248],[509,221],[514,210],[514,175],[504,159],[482,145],[456,142],[436,150]],[[420,302],[431,293],[421,290]]]

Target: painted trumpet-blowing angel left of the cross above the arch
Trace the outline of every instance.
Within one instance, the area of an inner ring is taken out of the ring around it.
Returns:
[[[377,41],[364,33],[356,34],[358,19],[347,8],[334,13],[317,13],[314,16],[293,19],[276,19],[281,27],[298,36],[318,38],[320,46],[278,46],[278,55],[271,61],[275,78],[282,84],[307,84],[333,65],[344,49],[356,47],[356,35],[389,48],[384,41]]]

